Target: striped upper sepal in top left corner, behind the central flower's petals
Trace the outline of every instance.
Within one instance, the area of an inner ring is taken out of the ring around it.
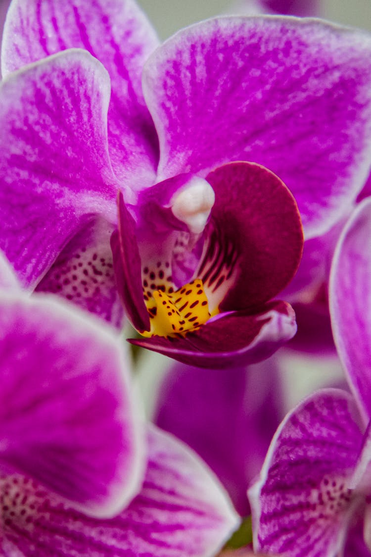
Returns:
[[[2,47],[3,72],[66,48],[85,48],[112,83],[108,141],[113,169],[129,187],[154,182],[157,137],[141,87],[144,62],[158,40],[132,0],[12,2]]]

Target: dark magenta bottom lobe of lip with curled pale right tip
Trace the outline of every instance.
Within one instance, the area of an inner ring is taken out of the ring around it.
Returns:
[[[128,339],[182,363],[202,368],[254,364],[273,354],[296,333],[295,314],[285,302],[271,302],[256,315],[231,312],[213,317],[185,338]]]

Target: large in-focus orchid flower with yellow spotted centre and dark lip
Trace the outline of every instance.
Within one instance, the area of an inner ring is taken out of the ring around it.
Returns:
[[[157,44],[130,0],[12,2],[1,246],[22,284],[119,324],[113,232],[138,344],[196,365],[251,363],[296,330],[270,301],[301,252],[280,180],[309,238],[367,176],[371,41],[319,21],[227,17]],[[189,290],[203,309],[186,317],[176,300]]]

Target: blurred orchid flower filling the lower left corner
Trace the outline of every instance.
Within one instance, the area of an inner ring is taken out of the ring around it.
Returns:
[[[190,449],[144,435],[117,331],[27,297],[2,256],[0,289],[2,554],[215,554],[238,516]]]

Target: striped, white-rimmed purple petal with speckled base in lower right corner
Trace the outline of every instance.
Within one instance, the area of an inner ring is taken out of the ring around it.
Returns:
[[[315,393],[286,416],[250,489],[254,548],[335,557],[355,501],[348,489],[362,433],[355,400]]]

